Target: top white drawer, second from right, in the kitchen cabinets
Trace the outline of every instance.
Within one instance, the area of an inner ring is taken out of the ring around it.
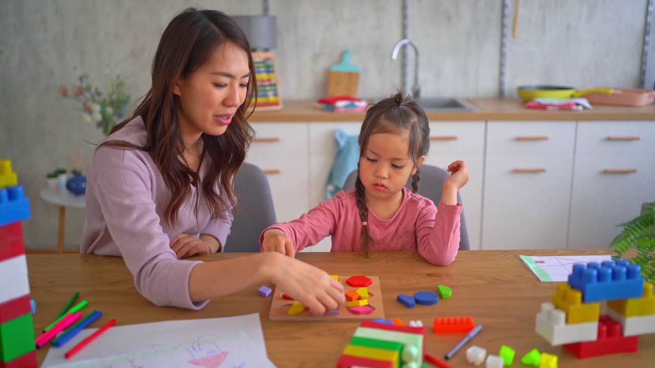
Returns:
[[[487,153],[569,153],[574,141],[574,121],[487,123]]]

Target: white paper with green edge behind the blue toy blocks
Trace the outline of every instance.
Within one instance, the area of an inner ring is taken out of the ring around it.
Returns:
[[[562,255],[551,257],[532,257],[520,255],[521,261],[542,282],[566,282],[573,272],[573,265],[576,263],[602,263],[612,261],[611,255]]]

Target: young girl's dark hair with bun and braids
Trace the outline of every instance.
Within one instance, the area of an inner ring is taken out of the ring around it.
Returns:
[[[373,134],[409,132],[409,157],[416,173],[412,175],[413,193],[419,190],[419,158],[427,155],[430,149],[430,125],[421,105],[411,97],[403,98],[398,92],[390,98],[379,101],[366,111],[362,122],[358,143],[360,143],[360,160],[366,153],[368,139]],[[360,179],[360,164],[357,162],[357,179],[355,180],[355,199],[360,210],[362,223],[368,221],[368,206],[364,195],[364,184]],[[373,242],[368,226],[362,226],[360,252],[368,256],[369,246]]]

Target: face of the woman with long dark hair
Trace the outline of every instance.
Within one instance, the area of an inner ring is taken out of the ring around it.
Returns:
[[[250,77],[248,55],[228,41],[189,78],[178,79],[173,93],[179,96],[183,136],[197,139],[202,133],[225,133],[236,109],[246,100]]]

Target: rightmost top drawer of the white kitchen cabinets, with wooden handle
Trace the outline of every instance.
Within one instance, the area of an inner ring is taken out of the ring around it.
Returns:
[[[579,153],[655,153],[655,122],[580,121]]]

